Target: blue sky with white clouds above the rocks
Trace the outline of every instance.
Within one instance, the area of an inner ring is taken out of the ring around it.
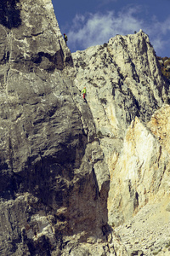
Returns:
[[[156,55],[170,57],[170,0],[52,0],[71,52],[142,29]]]

